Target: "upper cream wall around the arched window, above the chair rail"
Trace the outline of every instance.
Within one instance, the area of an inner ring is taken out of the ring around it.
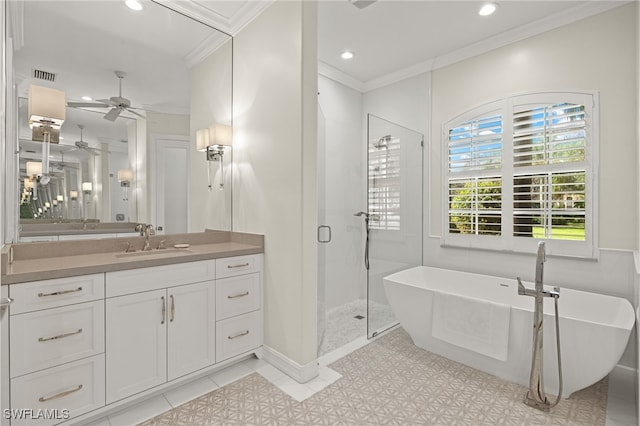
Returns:
[[[433,72],[430,234],[442,228],[441,125],[506,95],[600,92],[600,247],[638,247],[637,14],[631,3]],[[624,182],[624,184],[621,184]]]

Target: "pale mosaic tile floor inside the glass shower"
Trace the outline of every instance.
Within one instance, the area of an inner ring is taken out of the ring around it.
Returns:
[[[397,323],[391,307],[382,303],[371,302],[369,314],[372,325],[376,329]],[[354,341],[366,340],[366,316],[367,301],[365,299],[354,300],[327,310],[325,331],[318,347],[318,355],[325,355]]]

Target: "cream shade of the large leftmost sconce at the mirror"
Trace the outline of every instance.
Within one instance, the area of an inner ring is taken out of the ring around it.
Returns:
[[[29,125],[60,129],[65,119],[64,92],[42,86],[29,86]]]

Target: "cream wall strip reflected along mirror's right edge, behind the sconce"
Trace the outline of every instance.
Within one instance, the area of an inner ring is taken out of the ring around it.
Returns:
[[[231,123],[231,82],[233,42],[229,40],[190,70],[191,87],[191,184],[189,187],[189,232],[209,229],[231,229],[231,172],[232,152],[223,156],[225,188],[218,189],[219,162],[211,165],[204,152],[196,150],[196,132],[213,124]],[[211,166],[214,188],[207,188],[207,168]]]

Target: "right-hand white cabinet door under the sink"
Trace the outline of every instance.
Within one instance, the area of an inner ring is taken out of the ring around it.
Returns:
[[[215,283],[167,289],[169,380],[215,363]]]

